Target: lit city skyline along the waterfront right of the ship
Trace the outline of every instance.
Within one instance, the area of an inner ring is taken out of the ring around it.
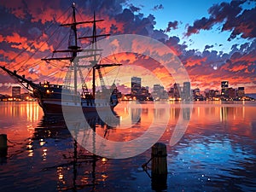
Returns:
[[[130,93],[122,93],[122,100],[138,101],[205,101],[205,100],[224,100],[241,101],[253,100],[254,97],[246,96],[244,87],[230,87],[229,81],[220,82],[220,90],[200,90],[200,88],[191,89],[190,82],[183,82],[183,86],[174,83],[171,87],[165,88],[161,84],[154,84],[149,90],[148,86],[143,86],[143,79],[140,77],[131,78]]]

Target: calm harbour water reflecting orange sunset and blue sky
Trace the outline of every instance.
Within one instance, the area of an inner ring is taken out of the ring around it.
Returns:
[[[195,102],[192,108],[122,102],[111,126],[96,116],[86,120],[100,137],[124,142],[169,118],[160,137],[167,145],[166,191],[253,191],[255,107],[254,102]],[[36,102],[0,102],[0,113],[0,133],[9,139],[8,154],[0,161],[0,191],[153,191],[141,168],[150,149],[131,158],[108,159],[81,147],[64,119],[45,117]],[[178,119],[189,125],[170,147]]]

